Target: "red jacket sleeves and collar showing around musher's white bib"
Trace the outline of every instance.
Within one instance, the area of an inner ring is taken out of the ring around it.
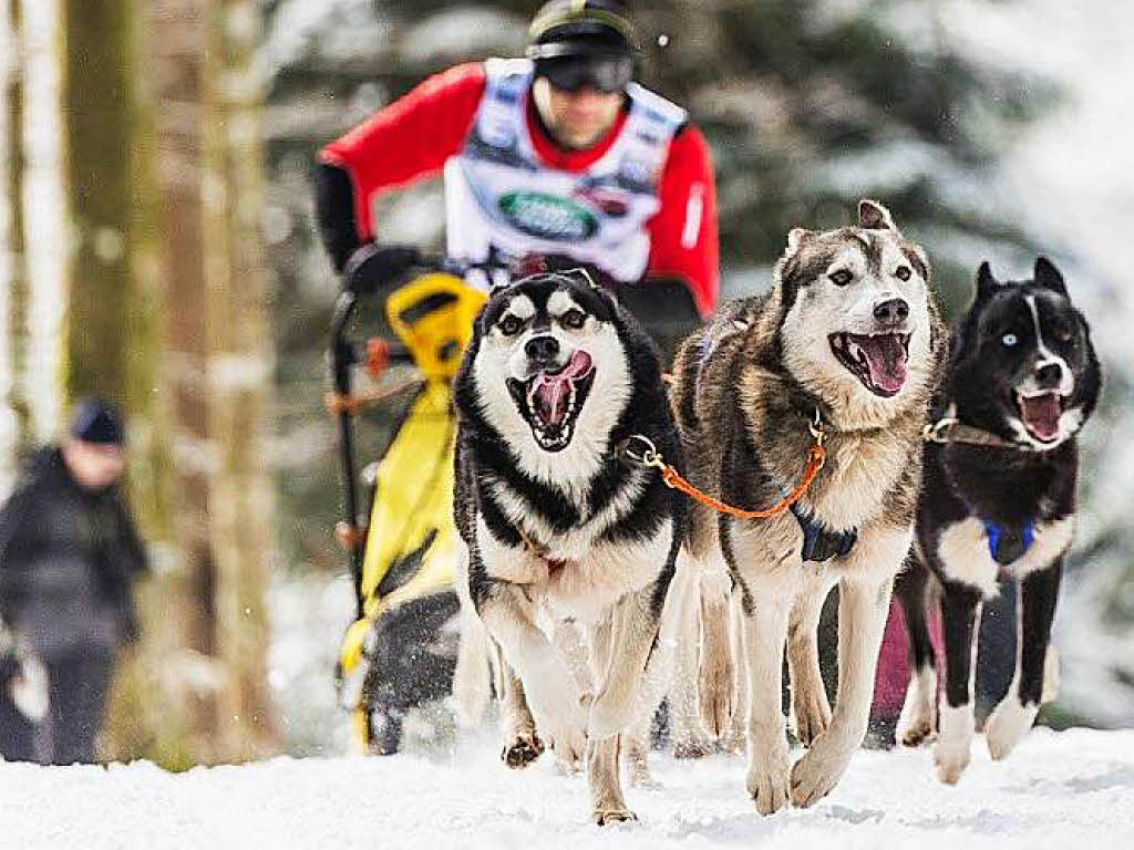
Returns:
[[[375,238],[371,210],[376,193],[437,176],[446,160],[460,151],[484,84],[483,65],[451,68],[426,79],[320,152],[321,162],[349,176],[355,235],[359,241]],[[613,144],[624,120],[625,116],[593,147],[564,151],[542,130],[534,107],[528,103],[532,141],[549,169],[587,168]],[[694,209],[689,196],[697,184],[703,186],[699,189],[703,193],[700,215],[689,218],[688,212]],[[649,224],[646,277],[679,278],[693,294],[702,316],[708,316],[717,306],[718,292],[717,197],[708,145],[692,125],[682,128],[669,145],[659,198],[660,210]],[[696,228],[695,235],[686,233],[686,228]]]

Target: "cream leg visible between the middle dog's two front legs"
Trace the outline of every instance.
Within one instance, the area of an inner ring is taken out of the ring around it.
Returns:
[[[826,570],[821,575],[809,576],[796,596],[788,623],[792,724],[795,737],[804,747],[810,747],[831,722],[831,706],[827,702],[827,688],[819,669],[819,620],[835,581]]]

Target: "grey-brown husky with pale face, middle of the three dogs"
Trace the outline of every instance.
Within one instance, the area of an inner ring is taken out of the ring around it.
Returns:
[[[710,575],[727,569],[741,612],[746,694],[733,711],[747,704],[746,784],[761,813],[819,800],[862,743],[945,343],[924,250],[862,201],[857,227],[793,230],[771,291],[727,305],[678,354],[689,477],[713,496],[748,510],[776,503],[801,478],[816,420],[826,435],[826,465],[792,511],[738,520],[699,505],[689,516],[692,558]],[[816,627],[836,584],[831,713]],[[786,641],[796,732],[810,745],[794,766],[780,702]],[[728,652],[722,644],[706,652]]]

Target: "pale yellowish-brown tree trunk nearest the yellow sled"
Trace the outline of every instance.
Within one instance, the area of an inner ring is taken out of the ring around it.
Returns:
[[[221,459],[210,487],[220,655],[230,678],[223,717],[229,757],[273,746],[266,592],[273,499],[264,465],[274,358],[260,215],[263,209],[255,0],[214,0],[205,63],[205,281],[210,425]],[[229,723],[229,720],[231,722]]]

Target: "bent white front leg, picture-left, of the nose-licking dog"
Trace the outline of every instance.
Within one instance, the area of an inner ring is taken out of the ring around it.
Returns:
[[[536,729],[550,739],[560,763],[577,768],[586,748],[582,695],[551,641],[535,626],[523,589],[488,579],[477,603],[484,627],[500,645],[505,661],[519,674]]]

